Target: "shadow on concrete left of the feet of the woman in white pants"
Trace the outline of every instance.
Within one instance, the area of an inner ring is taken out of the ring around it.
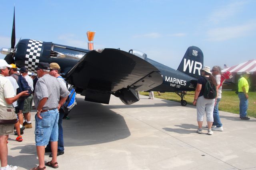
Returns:
[[[190,134],[190,133],[195,133],[196,129],[198,128],[197,125],[192,125],[192,124],[181,124],[181,125],[175,125],[175,126],[180,128],[163,128],[163,129],[168,132]],[[188,130],[188,129],[192,129],[192,130]]]

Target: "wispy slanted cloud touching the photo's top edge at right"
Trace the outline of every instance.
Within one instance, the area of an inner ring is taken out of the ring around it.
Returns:
[[[218,24],[221,20],[226,20],[242,11],[244,4],[246,4],[246,1],[232,1],[231,4],[215,10],[210,16],[209,20],[210,22]]]

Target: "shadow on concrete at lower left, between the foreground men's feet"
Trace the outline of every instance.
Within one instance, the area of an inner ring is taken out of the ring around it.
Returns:
[[[10,150],[20,150],[19,156],[13,157],[8,155],[8,162],[10,162],[10,164],[14,164],[15,166],[19,166],[27,170],[37,166],[36,164],[38,164],[38,159],[36,157],[36,146],[34,144],[17,146]]]

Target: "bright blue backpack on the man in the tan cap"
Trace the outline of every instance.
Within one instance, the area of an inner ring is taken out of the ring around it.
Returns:
[[[61,76],[59,76],[61,77]],[[58,78],[58,77],[57,77]],[[63,77],[61,77],[64,79]],[[65,79],[64,79],[65,81]],[[70,92],[70,95],[68,95],[68,99],[66,99],[66,102],[62,105],[62,109],[65,113],[69,112],[75,105],[76,105],[76,91],[72,85],[70,85],[68,82],[66,82],[66,86],[68,91]]]

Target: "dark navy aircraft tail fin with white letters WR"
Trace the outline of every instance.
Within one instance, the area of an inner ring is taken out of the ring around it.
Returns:
[[[203,64],[204,54],[202,50],[196,46],[190,46],[177,70],[193,77],[199,77]]]

